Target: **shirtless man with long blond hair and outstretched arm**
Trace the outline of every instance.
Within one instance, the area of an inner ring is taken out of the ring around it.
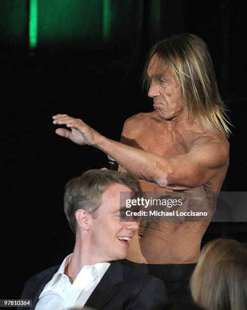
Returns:
[[[204,41],[184,33],[158,42],[150,51],[144,81],[155,111],[128,119],[120,142],[66,114],[55,115],[53,123],[71,131],[59,128],[56,133],[109,154],[120,170],[140,179],[143,191],[220,191],[229,165],[230,130]],[[127,259],[132,267],[163,278],[170,296],[186,295],[208,224],[141,224]]]

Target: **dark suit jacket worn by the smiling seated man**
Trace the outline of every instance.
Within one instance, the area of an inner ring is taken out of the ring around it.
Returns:
[[[59,266],[55,266],[46,269],[26,282],[20,298],[32,299],[32,307],[19,307],[18,309],[34,309],[44,286],[51,280],[58,268]],[[119,261],[114,261],[85,306],[104,310],[145,310],[165,299],[166,289],[162,280],[123,266]]]

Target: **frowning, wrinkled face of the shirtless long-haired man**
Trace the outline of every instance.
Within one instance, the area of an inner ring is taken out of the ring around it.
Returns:
[[[160,118],[177,119],[183,110],[182,89],[171,73],[156,74],[157,56],[154,55],[148,65],[150,88],[148,95],[154,99],[154,107]]]

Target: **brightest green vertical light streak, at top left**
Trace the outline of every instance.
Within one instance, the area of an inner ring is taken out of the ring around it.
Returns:
[[[38,0],[29,1],[29,49],[33,50],[38,42]]]

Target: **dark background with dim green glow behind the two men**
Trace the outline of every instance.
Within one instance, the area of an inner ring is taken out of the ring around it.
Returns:
[[[52,115],[82,118],[119,140],[124,121],[151,111],[140,77],[149,48],[181,32],[208,44],[232,128],[224,190],[245,191],[246,13],[237,1],[37,0],[37,45],[29,44],[31,0],[1,0],[2,289],[19,298],[31,275],[59,264],[74,239],[63,214],[66,182],[104,167],[104,153],[55,135]],[[212,223],[215,237],[246,241],[246,223]]]

